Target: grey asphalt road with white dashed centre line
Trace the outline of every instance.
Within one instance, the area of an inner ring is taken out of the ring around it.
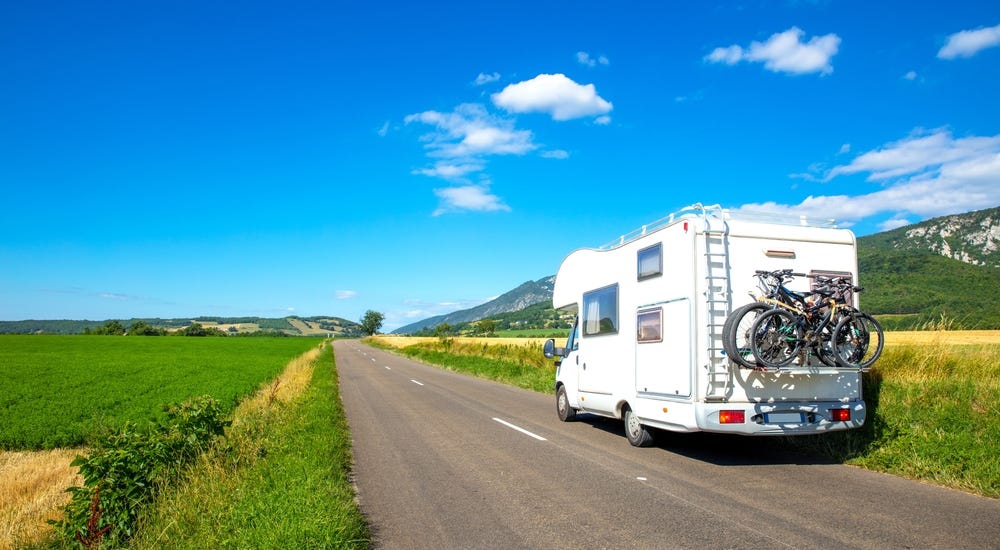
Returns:
[[[1000,548],[1000,500],[773,451],[563,423],[555,399],[334,343],[379,548]]]

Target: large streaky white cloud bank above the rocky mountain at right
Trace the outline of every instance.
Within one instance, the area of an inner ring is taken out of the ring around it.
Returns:
[[[956,139],[947,130],[912,135],[862,153],[850,163],[829,169],[821,181],[867,175],[877,184],[860,195],[809,196],[799,204],[748,204],[744,210],[836,218],[846,225],[889,213],[903,223],[908,214],[922,218],[989,208],[1000,204],[1000,135]]]

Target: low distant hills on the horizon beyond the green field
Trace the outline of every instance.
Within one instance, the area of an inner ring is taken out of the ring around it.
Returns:
[[[340,317],[195,317],[192,319],[133,318],[118,319],[127,327],[143,322],[151,327],[175,331],[198,323],[206,328],[216,328],[227,334],[239,335],[258,331],[274,331],[289,336],[354,337],[361,334],[361,327],[354,321]],[[103,327],[108,321],[26,320],[0,321],[0,334],[82,334],[87,330]]]

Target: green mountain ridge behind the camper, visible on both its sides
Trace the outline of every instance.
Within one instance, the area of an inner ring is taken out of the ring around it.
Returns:
[[[1000,207],[942,216],[858,239],[861,303],[886,328],[1000,329]],[[475,308],[424,319],[397,334],[431,333],[442,323],[469,330],[561,328],[552,309],[555,276],[527,282]]]

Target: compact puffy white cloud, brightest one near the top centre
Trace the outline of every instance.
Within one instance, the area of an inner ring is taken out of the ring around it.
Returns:
[[[577,84],[564,74],[540,74],[510,84],[492,95],[493,103],[512,113],[548,113],[553,120],[600,116],[611,111],[610,102],[597,95],[593,84]]]

